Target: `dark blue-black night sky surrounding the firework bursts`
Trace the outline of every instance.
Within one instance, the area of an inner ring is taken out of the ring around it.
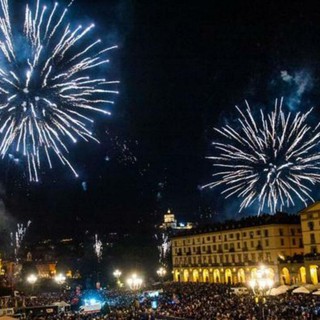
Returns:
[[[212,153],[213,126],[245,99],[271,107],[284,96],[290,109],[314,106],[319,115],[316,4],[76,0],[70,14],[95,21],[97,38],[119,45],[107,72],[121,81],[120,94],[113,115],[96,122],[101,144],[71,149],[78,179],[57,164],[30,184],[21,167],[2,160],[8,215],[31,219],[43,234],[80,225],[131,228],[159,222],[168,208],[180,220],[196,221],[208,208],[220,219],[237,217],[238,201],[199,189],[211,181],[205,156]],[[281,71],[302,80],[289,85]]]

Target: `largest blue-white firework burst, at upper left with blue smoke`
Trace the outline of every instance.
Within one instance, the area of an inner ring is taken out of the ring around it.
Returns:
[[[9,149],[22,154],[30,181],[39,179],[42,156],[52,168],[52,154],[77,177],[67,144],[79,138],[99,142],[87,114],[110,114],[105,105],[113,101],[107,97],[118,93],[112,86],[119,82],[95,74],[116,46],[91,40],[93,24],[72,28],[68,9],[58,3],[50,10],[40,0],[34,8],[26,4],[20,28],[11,23],[8,0],[0,5],[0,155]]]

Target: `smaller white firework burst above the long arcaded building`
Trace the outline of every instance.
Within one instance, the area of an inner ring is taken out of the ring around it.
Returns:
[[[274,110],[255,118],[248,103],[240,114],[240,128],[225,125],[215,128],[225,142],[213,142],[217,172],[214,182],[205,186],[222,186],[225,198],[242,200],[240,211],[258,204],[259,212],[275,213],[295,205],[295,200],[307,205],[311,186],[320,182],[319,124],[312,127],[306,113],[286,113],[283,99],[275,101]]]

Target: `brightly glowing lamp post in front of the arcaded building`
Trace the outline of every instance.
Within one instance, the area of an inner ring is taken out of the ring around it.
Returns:
[[[270,272],[265,266],[260,266],[255,277],[253,277],[249,285],[255,296],[255,302],[261,310],[261,319],[265,319],[264,304],[266,302],[266,293],[273,287],[274,281],[270,277]]]

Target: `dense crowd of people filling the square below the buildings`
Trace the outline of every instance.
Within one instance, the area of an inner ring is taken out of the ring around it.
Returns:
[[[81,292],[85,295],[86,292]],[[154,297],[148,293],[101,290],[106,301],[102,312],[86,314],[72,310],[72,295],[67,293],[23,297],[26,307],[64,301],[71,310],[53,315],[30,315],[45,320],[311,320],[320,319],[320,297],[312,294],[283,295],[257,301],[249,294],[236,295],[229,285],[208,283],[167,283]],[[22,299],[21,297],[19,299]],[[81,301],[81,299],[79,300]],[[11,301],[12,302],[12,301]]]

